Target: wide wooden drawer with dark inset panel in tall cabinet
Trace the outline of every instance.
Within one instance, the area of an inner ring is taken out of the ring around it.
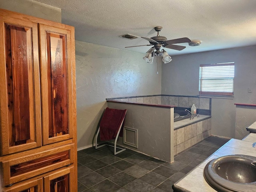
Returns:
[[[74,144],[2,161],[4,186],[74,163]]]

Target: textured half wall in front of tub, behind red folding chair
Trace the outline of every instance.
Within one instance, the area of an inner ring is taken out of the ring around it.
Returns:
[[[124,126],[138,129],[138,148],[127,146],[128,148],[166,162],[173,162],[174,108],[114,102],[108,102],[108,107],[127,109]],[[125,146],[122,138],[119,138],[118,143]]]

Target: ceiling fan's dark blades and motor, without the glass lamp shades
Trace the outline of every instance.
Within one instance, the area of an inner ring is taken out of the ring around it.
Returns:
[[[174,49],[174,50],[183,50],[184,48],[186,48],[185,46],[180,46],[180,45],[174,45],[177,43],[189,43],[191,42],[191,40],[187,37],[183,37],[183,38],[178,38],[178,39],[172,39],[172,40],[167,40],[166,37],[164,36],[160,36],[159,32],[162,30],[162,27],[158,26],[154,28],[157,32],[157,36],[151,37],[151,38],[147,38],[147,37],[141,37],[145,40],[148,40],[150,44],[147,45],[138,45],[138,46],[154,46],[152,48],[156,49],[156,51],[154,52],[156,55],[161,55],[161,51],[160,48],[163,46],[164,48],[170,48],[170,49]],[[138,47],[138,46],[129,46],[129,47]],[[129,47],[125,47],[125,48],[129,48]],[[152,48],[150,50],[152,50]],[[148,51],[150,51],[148,50]]]

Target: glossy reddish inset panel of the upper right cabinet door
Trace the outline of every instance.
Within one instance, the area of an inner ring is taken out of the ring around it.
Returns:
[[[46,32],[49,87],[49,138],[68,134],[66,35]]]

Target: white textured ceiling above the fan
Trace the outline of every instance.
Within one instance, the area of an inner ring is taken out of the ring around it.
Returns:
[[[256,45],[256,0],[36,0],[62,9],[62,23],[75,27],[76,40],[146,52],[148,41],[122,34],[152,37],[155,26],[168,40],[188,37],[200,46],[170,55]]]

